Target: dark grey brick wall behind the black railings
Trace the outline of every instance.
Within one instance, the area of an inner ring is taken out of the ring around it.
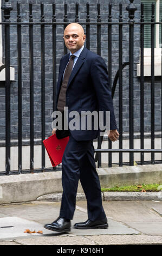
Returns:
[[[17,20],[16,3],[17,0],[9,1],[13,7],[11,11],[11,21]],[[21,19],[23,22],[29,21],[29,0],[20,0],[21,3]],[[44,19],[46,22],[52,20],[52,3],[53,0],[35,0],[33,2],[33,20],[39,22],[41,19],[40,3],[44,3]],[[86,3],[87,0],[80,0],[79,2],[79,21],[86,21]],[[96,21],[97,17],[97,0],[90,0],[90,21]],[[128,0],[112,0],[112,21],[118,22],[119,20],[119,2],[123,4],[123,20],[128,21],[128,12],[126,6]],[[64,1],[56,0],[56,21],[62,22],[64,15]],[[68,21],[75,21],[75,3],[76,0],[67,0],[68,3]],[[107,22],[108,20],[108,3],[107,0],[100,0],[101,4],[101,21]],[[134,0],[134,4],[138,10],[135,12],[135,20],[140,20],[140,0]],[[2,14],[3,17],[3,14]],[[85,28],[85,26],[83,26]],[[46,42],[46,136],[51,135],[51,118],[52,106],[53,106],[53,66],[52,66],[52,30],[51,26],[47,25],[45,28],[45,42]],[[108,29],[106,25],[101,28],[101,56],[108,62]],[[119,28],[118,25],[112,27],[112,83],[116,71],[119,68]],[[63,26],[57,26],[57,75],[60,58],[63,56]],[[4,37],[3,37],[4,39]],[[123,63],[128,62],[128,47],[129,47],[129,28],[123,27]],[[15,81],[11,82],[11,138],[17,138],[18,133],[18,89],[17,89],[17,28],[16,25],[12,25],[10,29],[10,41],[11,41],[11,66],[15,68]],[[40,25],[34,26],[34,132],[35,138],[41,137],[41,42],[40,42]],[[90,50],[97,52],[97,34],[96,26],[90,26]],[[134,63],[139,63],[140,52],[140,28],[135,26],[134,28]],[[28,26],[22,26],[22,122],[23,122],[23,138],[30,138],[30,74],[29,74],[29,29]],[[128,66],[123,71],[123,130],[129,131],[129,106],[128,106]],[[150,131],[151,125],[151,83],[150,78],[145,81],[145,131]],[[155,130],[160,131],[160,78],[155,77]],[[0,87],[0,139],[5,138],[5,88],[4,83],[1,82]],[[119,118],[119,93],[118,84],[114,95],[114,109],[116,120],[118,123]],[[136,64],[134,64],[134,131],[140,131],[140,80],[136,76]]]

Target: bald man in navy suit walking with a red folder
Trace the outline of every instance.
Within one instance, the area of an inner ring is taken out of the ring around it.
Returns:
[[[108,136],[111,141],[116,141],[119,133],[108,85],[107,67],[103,58],[84,46],[86,35],[78,23],[70,23],[64,29],[63,38],[70,53],[60,60],[57,110],[63,113],[64,107],[67,106],[69,112],[103,111],[104,126],[106,111],[109,111],[110,131]],[[79,179],[87,199],[88,220],[75,223],[74,228],[108,228],[94,160],[93,139],[99,136],[100,130],[95,130],[93,127],[94,120],[92,120],[92,130],[68,130],[66,136],[69,135],[69,141],[62,158],[63,193],[60,215],[53,223],[44,225],[44,228],[59,232],[70,231],[70,220],[73,219],[75,211]],[[62,137],[64,136],[63,132]],[[61,131],[56,130],[56,136],[61,138]]]

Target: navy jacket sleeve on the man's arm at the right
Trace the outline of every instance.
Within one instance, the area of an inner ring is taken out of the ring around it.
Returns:
[[[108,72],[102,57],[96,56],[92,60],[90,75],[98,99],[99,111],[103,111],[103,125],[106,125],[106,111],[110,112],[110,130],[117,129],[111,89],[108,84]]]

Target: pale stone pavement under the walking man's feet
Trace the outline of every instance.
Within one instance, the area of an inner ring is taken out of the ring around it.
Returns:
[[[108,229],[73,228],[74,223],[88,218],[86,200],[77,200],[69,233],[43,228],[59,216],[60,201],[0,205],[0,245],[162,245],[162,201],[103,201],[102,204]],[[36,233],[24,233],[26,229]]]

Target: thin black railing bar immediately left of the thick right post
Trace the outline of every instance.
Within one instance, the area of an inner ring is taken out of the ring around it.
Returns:
[[[119,4],[119,22],[122,22],[122,4]],[[122,26],[119,25],[119,148],[122,149]],[[119,153],[119,166],[122,166],[122,152]]]

